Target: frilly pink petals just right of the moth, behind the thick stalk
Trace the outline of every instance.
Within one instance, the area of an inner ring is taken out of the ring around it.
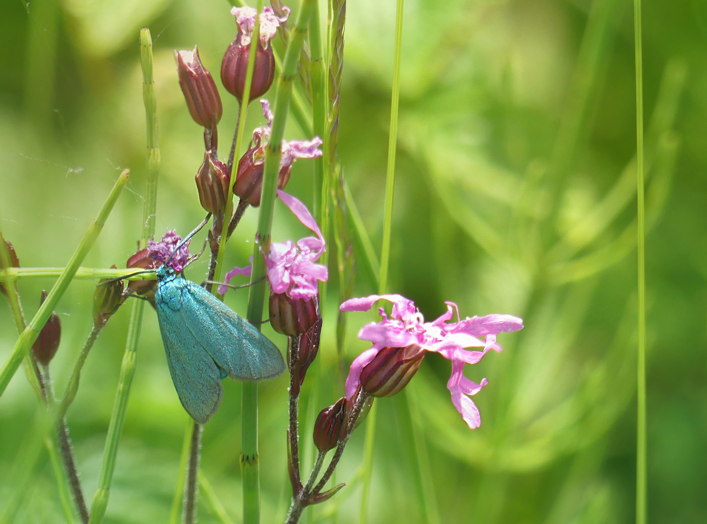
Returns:
[[[319,260],[325,252],[324,237],[305,204],[281,190],[277,191],[277,195],[299,221],[314,231],[317,236],[302,238],[297,244],[292,240],[271,243],[270,253],[265,260],[270,290],[273,293],[286,293],[295,300],[307,301],[319,292],[317,281],[323,282],[329,278],[327,267],[315,264],[315,261]],[[228,283],[236,274],[250,276],[250,271],[251,266],[234,267],[226,274],[226,282]],[[226,286],[218,289],[220,294],[225,292]]]

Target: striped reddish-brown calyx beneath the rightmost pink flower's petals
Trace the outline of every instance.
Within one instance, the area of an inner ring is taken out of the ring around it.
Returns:
[[[374,397],[391,397],[402,390],[420,367],[425,351],[417,344],[384,347],[363,366],[361,387]]]

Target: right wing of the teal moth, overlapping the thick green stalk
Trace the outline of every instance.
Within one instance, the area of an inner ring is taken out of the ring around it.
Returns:
[[[261,380],[285,371],[280,350],[264,334],[201,286],[189,284],[189,293],[200,307],[182,308],[185,319],[189,319],[194,335],[228,376]]]

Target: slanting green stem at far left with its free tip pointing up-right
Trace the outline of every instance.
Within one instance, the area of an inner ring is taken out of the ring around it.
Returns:
[[[52,315],[52,310],[54,310],[54,306],[56,306],[57,302],[59,302],[59,298],[62,298],[64,292],[69,287],[71,279],[74,278],[74,274],[76,273],[76,269],[78,269],[79,264],[81,264],[83,259],[88,254],[88,251],[91,246],[93,246],[93,243],[95,243],[98,235],[100,235],[100,231],[103,229],[105,220],[108,218],[108,215],[113,209],[120,192],[128,181],[129,173],[129,170],[124,170],[118,177],[117,182],[115,182],[113,189],[108,195],[108,199],[105,201],[105,204],[103,204],[103,208],[99,211],[98,216],[96,216],[93,223],[89,226],[88,231],[86,231],[86,235],[83,236],[81,243],[78,245],[78,248],[76,248],[74,255],[71,256],[69,263],[66,264],[66,268],[64,268],[64,271],[59,276],[59,279],[57,279],[54,286],[52,286],[47,299],[44,303],[42,303],[42,305],[40,305],[40,308],[37,310],[34,318],[30,321],[29,325],[18,338],[15,347],[13,347],[10,356],[0,371],[0,396],[5,392],[5,388],[7,388],[8,383],[10,383],[10,379],[13,377],[17,371],[17,368],[20,366],[20,363],[25,358],[25,355],[30,350],[30,347],[32,347],[32,344],[34,344],[35,340],[39,336],[42,327],[44,327],[47,320],[49,320],[49,316]]]

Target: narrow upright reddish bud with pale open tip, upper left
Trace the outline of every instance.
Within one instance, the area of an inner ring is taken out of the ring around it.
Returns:
[[[175,50],[175,60],[179,85],[194,122],[208,129],[216,129],[223,112],[221,96],[211,73],[201,64],[199,49],[194,46],[194,51]]]

